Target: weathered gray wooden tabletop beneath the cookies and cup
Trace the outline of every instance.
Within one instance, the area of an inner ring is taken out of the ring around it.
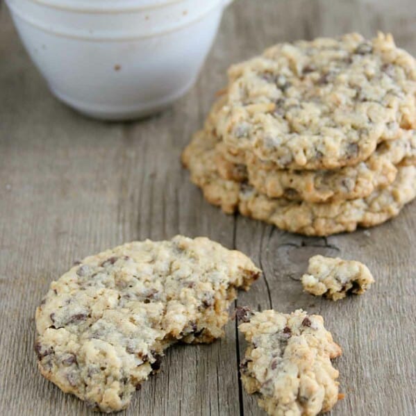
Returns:
[[[229,64],[281,40],[391,31],[416,54],[415,0],[238,0],[197,85],[157,117],[85,119],[49,94],[0,2],[0,414],[89,415],[45,381],[33,353],[34,310],[72,262],[135,239],[207,235],[256,261],[265,276],[238,304],[324,315],[344,350],[345,399],[333,415],[415,415],[416,203],[388,224],[302,238],[203,201],[179,163]],[[363,260],[376,284],[338,303],[304,294],[297,279],[315,253]],[[210,346],[167,351],[126,415],[263,415],[242,391],[235,322]]]

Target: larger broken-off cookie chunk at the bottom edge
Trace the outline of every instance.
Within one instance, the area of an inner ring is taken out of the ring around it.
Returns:
[[[247,315],[247,314],[246,314]],[[341,355],[319,315],[296,310],[252,313],[238,327],[249,347],[240,365],[249,394],[272,416],[313,416],[338,401],[339,372],[331,359]]]

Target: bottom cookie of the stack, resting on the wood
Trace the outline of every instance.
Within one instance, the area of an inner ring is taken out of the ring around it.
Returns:
[[[215,167],[218,138],[204,131],[197,133],[183,152],[191,180],[203,190],[208,202],[226,213],[260,219],[292,233],[331,235],[354,231],[357,226],[375,226],[395,217],[416,197],[416,167],[399,167],[397,178],[388,187],[366,198],[333,203],[290,201],[269,198],[247,183],[226,181]]]

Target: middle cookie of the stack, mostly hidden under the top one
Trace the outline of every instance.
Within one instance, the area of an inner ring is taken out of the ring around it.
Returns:
[[[221,149],[217,145],[217,151]],[[270,198],[310,202],[365,198],[378,188],[390,185],[397,175],[395,165],[415,165],[416,132],[403,131],[400,138],[379,144],[376,151],[356,166],[332,170],[299,171],[276,169],[247,154],[247,167],[226,160],[217,153],[219,176],[231,181],[249,181],[258,192]]]

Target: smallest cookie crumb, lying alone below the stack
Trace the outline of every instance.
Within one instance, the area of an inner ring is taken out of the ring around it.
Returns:
[[[301,281],[306,292],[338,301],[347,294],[363,294],[374,278],[359,261],[313,256],[309,259],[308,274],[303,274]]]

